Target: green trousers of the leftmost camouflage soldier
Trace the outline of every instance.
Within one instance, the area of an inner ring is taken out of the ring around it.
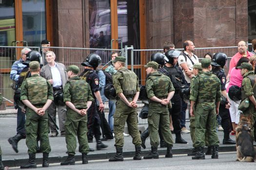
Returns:
[[[38,108],[42,107],[37,106]],[[28,153],[37,153],[37,138],[40,140],[40,151],[43,153],[50,153],[51,146],[48,137],[48,114],[47,110],[43,116],[39,116],[32,109],[27,107],[26,109],[26,145],[28,147]]]

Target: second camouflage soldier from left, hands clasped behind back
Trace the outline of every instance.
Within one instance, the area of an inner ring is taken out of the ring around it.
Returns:
[[[64,86],[63,101],[68,106],[65,121],[68,157],[60,165],[75,165],[76,136],[78,136],[79,141],[79,152],[82,153],[82,164],[88,164],[87,153],[89,153],[89,145],[86,135],[86,113],[94,98],[90,85],[78,77],[79,68],[77,66],[69,66],[66,71],[69,80]]]

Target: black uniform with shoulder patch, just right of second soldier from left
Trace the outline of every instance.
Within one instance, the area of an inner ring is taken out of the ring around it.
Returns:
[[[84,69],[84,71],[80,74],[80,79],[85,80],[91,87],[91,91],[93,94],[94,102],[91,107],[87,111],[87,128],[88,128],[88,141],[93,140],[93,136],[96,139],[100,139],[100,119],[97,111],[97,103],[94,92],[99,91],[99,78],[93,69]]]

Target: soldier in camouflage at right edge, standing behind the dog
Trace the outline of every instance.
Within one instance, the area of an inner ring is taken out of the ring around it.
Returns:
[[[253,71],[252,65],[249,63],[242,63],[241,66],[237,67],[241,69],[241,74],[243,76],[242,81],[242,101],[246,98],[249,98],[249,108],[243,111],[242,114],[240,114],[241,117],[251,117],[251,126],[254,124],[254,121],[256,119],[256,87],[253,86],[255,84],[256,75]],[[254,127],[250,127],[252,129],[251,134],[254,136]],[[256,136],[254,136],[256,137]]]

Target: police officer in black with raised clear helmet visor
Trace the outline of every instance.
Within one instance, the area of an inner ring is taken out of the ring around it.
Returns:
[[[173,86],[175,88],[175,94],[171,100],[173,106],[169,109],[169,113],[173,119],[174,133],[176,135],[175,143],[188,143],[181,137],[181,127],[180,127],[180,112],[181,112],[181,98],[179,95],[180,86],[186,85],[187,82],[184,78],[184,75],[177,64],[177,57],[180,55],[181,51],[177,50],[168,50],[165,52],[165,61],[166,64],[159,70],[163,74],[170,77]]]

